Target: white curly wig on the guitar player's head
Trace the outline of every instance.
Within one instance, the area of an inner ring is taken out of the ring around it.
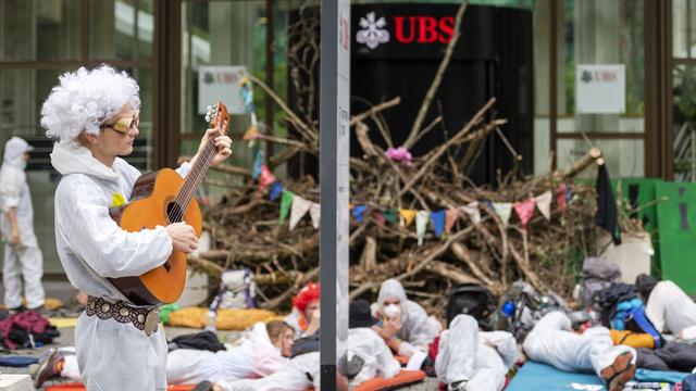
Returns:
[[[73,141],[83,130],[96,135],[99,125],[125,104],[140,109],[138,84],[109,65],[91,71],[80,67],[59,80],[41,108],[41,126],[49,138]]]

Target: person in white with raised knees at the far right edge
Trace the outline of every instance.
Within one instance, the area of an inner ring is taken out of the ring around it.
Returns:
[[[645,314],[659,332],[681,339],[696,337],[696,303],[676,283],[642,274],[635,286],[646,302]]]

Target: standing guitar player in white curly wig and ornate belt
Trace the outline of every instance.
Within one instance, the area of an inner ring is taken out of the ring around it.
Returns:
[[[140,176],[119,157],[133,152],[139,134],[138,90],[132,77],[108,65],[80,67],[59,78],[41,108],[41,126],[58,141],[51,164],[63,175],[55,190],[58,254],[71,283],[89,295],[75,327],[87,390],[166,389],[158,307],[135,305],[112,279],[140,276],[198,247],[186,222],[126,231],[110,217],[110,209],[132,198]],[[176,169],[182,178],[199,159],[217,164],[232,155],[232,139],[219,131],[208,129],[192,162]]]

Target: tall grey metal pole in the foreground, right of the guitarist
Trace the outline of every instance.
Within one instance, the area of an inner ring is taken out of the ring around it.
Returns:
[[[350,1],[322,0],[320,58],[321,387],[336,389],[336,345],[348,336]]]

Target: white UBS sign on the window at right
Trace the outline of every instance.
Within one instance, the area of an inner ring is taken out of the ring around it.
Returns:
[[[575,67],[575,102],[579,114],[625,113],[625,66],[579,64]]]

